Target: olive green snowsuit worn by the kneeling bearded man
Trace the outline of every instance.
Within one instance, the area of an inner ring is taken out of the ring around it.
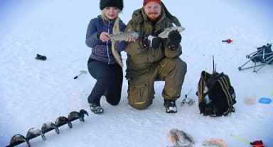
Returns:
[[[176,100],[181,95],[181,87],[186,74],[187,65],[179,58],[182,47],[176,49],[168,47],[168,39],[164,39],[158,48],[144,47],[143,36],[158,36],[164,28],[173,26],[166,17],[162,8],[161,17],[152,24],[147,20],[143,9],[134,11],[129,20],[126,31],[135,31],[140,37],[136,42],[128,42],[125,47],[127,52],[126,78],[128,79],[129,105],[142,110],[154,98],[154,81],[165,81],[162,96],[165,100]]]

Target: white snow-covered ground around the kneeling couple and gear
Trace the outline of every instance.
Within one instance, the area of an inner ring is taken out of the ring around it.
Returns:
[[[273,105],[261,104],[259,98],[273,97],[273,66],[258,73],[252,69],[238,71],[257,47],[273,42],[272,2],[241,1],[164,1],[186,30],[181,33],[188,73],[178,99],[178,113],[166,114],[161,90],[146,110],[127,105],[127,81],[124,78],[122,100],[117,106],[102,98],[104,114],[92,114],[87,96],[95,80],[87,74],[73,79],[80,70],[87,71],[90,48],[85,33],[91,18],[100,14],[99,1],[1,1],[0,2],[0,146],[9,145],[14,134],[26,136],[31,127],[55,122],[59,116],[85,109],[85,122],[60,127],[60,134],[50,131],[31,139],[31,146],[171,146],[167,134],[180,129],[191,134],[202,146],[205,139],[223,139],[228,146],[249,146],[230,135],[248,141],[262,140],[273,146]],[[127,23],[132,11],[142,1],[124,0],[120,17]],[[221,42],[230,38],[231,44]],[[38,61],[36,54],[48,59]],[[124,60],[126,53],[122,53]],[[195,95],[200,72],[212,71],[212,56],[217,70],[230,76],[235,88],[235,113],[228,117],[203,117],[198,104],[180,103],[184,96],[197,101]],[[253,64],[253,63],[250,63]],[[124,70],[126,66],[124,67]],[[245,100],[254,100],[247,105]],[[18,146],[26,146],[21,143]]]

